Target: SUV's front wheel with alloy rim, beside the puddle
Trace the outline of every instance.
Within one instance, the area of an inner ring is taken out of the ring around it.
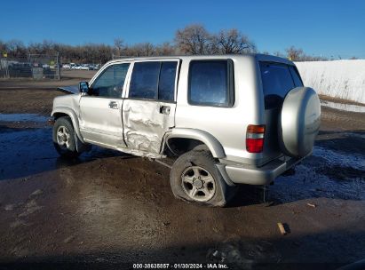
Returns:
[[[74,158],[80,153],[75,146],[75,131],[69,117],[60,117],[53,125],[53,145],[62,157]]]

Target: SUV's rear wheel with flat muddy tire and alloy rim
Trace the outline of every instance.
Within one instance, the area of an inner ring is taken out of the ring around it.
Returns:
[[[173,195],[189,203],[226,206],[234,187],[226,185],[216,163],[208,151],[192,150],[180,155],[170,173]]]

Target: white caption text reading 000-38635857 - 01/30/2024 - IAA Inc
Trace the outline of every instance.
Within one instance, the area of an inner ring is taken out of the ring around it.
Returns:
[[[228,269],[226,264],[133,264],[133,269]]]

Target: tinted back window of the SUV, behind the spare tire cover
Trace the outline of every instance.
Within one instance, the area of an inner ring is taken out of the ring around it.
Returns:
[[[265,108],[282,107],[286,94],[296,84],[301,84],[300,77],[294,83],[290,67],[284,64],[260,62],[261,80],[264,89]],[[293,70],[295,72],[295,70]],[[298,74],[295,74],[298,76]],[[302,85],[297,85],[302,86]]]

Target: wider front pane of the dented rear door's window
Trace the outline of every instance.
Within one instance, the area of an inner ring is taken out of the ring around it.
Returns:
[[[131,74],[129,98],[157,99],[161,62],[138,62]]]

